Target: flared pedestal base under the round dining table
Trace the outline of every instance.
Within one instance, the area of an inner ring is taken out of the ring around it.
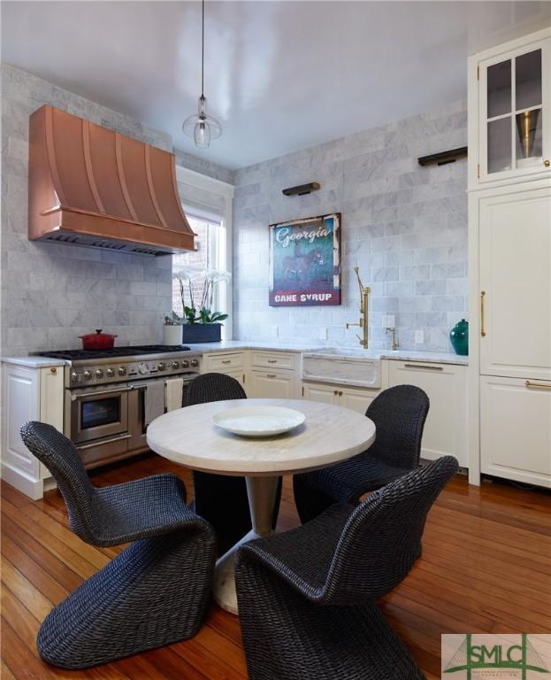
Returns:
[[[235,579],[233,577],[233,557],[240,545],[255,538],[264,538],[273,533],[272,521],[278,492],[279,476],[247,477],[247,494],[249,496],[251,531],[233,545],[216,563],[212,595],[214,601],[222,609],[231,614],[239,614]],[[228,507],[228,512],[231,508]]]

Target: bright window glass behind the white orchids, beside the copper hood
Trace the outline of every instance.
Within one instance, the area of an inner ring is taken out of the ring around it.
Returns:
[[[172,271],[174,278],[172,279],[172,309],[174,312],[183,314],[183,305],[180,296],[180,282],[176,278],[180,267],[190,267],[196,269],[198,272],[205,269],[220,269],[220,238],[223,234],[222,221],[206,214],[200,215],[198,211],[186,210],[187,221],[189,226],[195,231],[197,235],[195,238],[196,251],[182,252],[179,255],[172,257]],[[195,305],[199,305],[201,295],[203,293],[203,277],[197,275],[194,277],[193,294]],[[189,293],[186,287],[185,292],[187,305],[189,304]],[[226,312],[226,305],[220,299],[220,290],[216,291],[216,298],[214,305],[218,312]]]

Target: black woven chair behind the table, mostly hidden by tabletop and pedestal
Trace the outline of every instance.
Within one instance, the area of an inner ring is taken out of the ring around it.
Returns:
[[[187,387],[184,406],[246,398],[245,390],[231,375],[205,373],[198,375]],[[218,554],[224,554],[252,529],[245,478],[194,470],[193,483],[195,513],[213,527],[218,537]],[[278,520],[280,498],[281,480],[273,515],[274,527]]]

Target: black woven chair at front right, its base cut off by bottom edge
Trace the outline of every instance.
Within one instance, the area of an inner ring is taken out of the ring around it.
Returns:
[[[432,503],[457,470],[434,460],[237,553],[250,680],[421,680],[376,601],[409,573]]]

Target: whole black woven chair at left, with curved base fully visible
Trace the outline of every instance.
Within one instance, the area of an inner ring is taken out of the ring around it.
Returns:
[[[73,532],[91,545],[133,541],[46,616],[36,645],[62,668],[88,668],[192,638],[210,600],[216,537],[175,475],[96,488],[74,444],[27,422],[21,437],[50,470]]]

